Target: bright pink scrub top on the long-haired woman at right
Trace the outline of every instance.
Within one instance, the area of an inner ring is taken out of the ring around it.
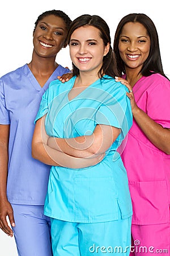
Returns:
[[[170,82],[162,75],[142,77],[133,87],[139,108],[156,123],[170,128]],[[128,172],[133,224],[163,224],[169,220],[170,155],[155,147],[133,119],[122,160]]]

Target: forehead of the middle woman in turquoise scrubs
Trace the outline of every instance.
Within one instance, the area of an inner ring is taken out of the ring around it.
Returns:
[[[76,28],[73,34],[71,35],[71,39],[78,40],[88,40],[88,39],[101,39],[100,30],[94,26],[82,26]]]

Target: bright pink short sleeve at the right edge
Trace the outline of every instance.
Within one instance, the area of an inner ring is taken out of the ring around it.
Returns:
[[[164,128],[170,128],[170,81],[162,81],[148,94],[147,114]]]

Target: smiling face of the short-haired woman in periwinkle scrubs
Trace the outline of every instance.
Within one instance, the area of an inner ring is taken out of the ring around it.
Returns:
[[[55,15],[44,17],[33,33],[33,46],[37,55],[56,57],[66,39],[66,23]]]

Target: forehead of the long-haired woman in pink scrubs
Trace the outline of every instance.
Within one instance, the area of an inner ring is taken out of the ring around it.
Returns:
[[[121,35],[147,36],[146,28],[139,22],[128,22],[124,25]]]

